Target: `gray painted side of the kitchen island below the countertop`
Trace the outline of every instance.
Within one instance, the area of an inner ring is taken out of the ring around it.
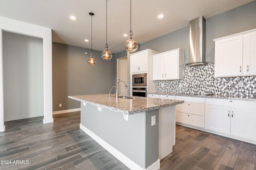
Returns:
[[[156,125],[151,126],[151,115]],[[127,158],[147,168],[158,161],[158,109],[128,116],[81,102],[81,125]],[[152,133],[151,133],[152,132]]]

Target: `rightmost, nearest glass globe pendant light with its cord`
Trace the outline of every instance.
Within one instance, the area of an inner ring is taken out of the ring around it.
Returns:
[[[132,0],[130,0],[130,32],[129,32],[129,39],[124,43],[124,49],[128,52],[136,51],[138,48],[138,43],[132,39],[133,32],[132,32]]]

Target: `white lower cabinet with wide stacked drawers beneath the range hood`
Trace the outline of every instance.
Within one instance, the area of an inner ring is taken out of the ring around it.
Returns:
[[[204,128],[204,98],[176,96],[176,100],[184,100],[176,105],[176,122]]]

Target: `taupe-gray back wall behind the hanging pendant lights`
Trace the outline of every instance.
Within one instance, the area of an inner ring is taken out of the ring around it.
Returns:
[[[90,52],[91,49],[52,43],[53,111],[80,108],[80,102],[68,96],[107,94],[114,86],[115,54],[106,61],[101,58],[102,51],[93,50],[96,64],[91,66],[87,64]]]

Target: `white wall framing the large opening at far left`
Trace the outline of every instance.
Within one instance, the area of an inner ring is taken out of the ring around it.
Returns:
[[[2,31],[9,31],[43,39],[43,86],[44,86],[44,123],[53,122],[52,118],[52,30],[29,23],[0,17],[0,131],[4,126],[4,78]],[[13,96],[15,98],[16,96]]]

